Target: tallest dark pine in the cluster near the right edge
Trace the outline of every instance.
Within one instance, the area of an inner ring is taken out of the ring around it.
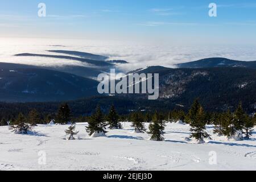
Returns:
[[[234,127],[237,131],[242,131],[243,126],[245,125],[246,122],[246,114],[245,111],[242,109],[242,103],[237,107],[237,110],[234,113]]]

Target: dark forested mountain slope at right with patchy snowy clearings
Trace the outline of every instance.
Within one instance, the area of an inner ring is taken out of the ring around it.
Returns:
[[[209,109],[232,109],[242,101],[247,108],[256,103],[256,69],[148,67],[136,73],[159,73],[159,98],[189,107],[195,98]],[[147,99],[145,94],[124,94]]]

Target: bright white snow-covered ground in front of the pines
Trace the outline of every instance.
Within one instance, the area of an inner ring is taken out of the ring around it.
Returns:
[[[68,125],[40,125],[30,135],[0,127],[0,170],[256,170],[255,131],[250,140],[212,135],[207,143],[192,144],[185,140],[189,126],[178,123],[168,123],[164,142],[134,133],[130,123],[108,130],[107,137],[90,138],[86,125],[77,124],[79,139],[69,141]]]

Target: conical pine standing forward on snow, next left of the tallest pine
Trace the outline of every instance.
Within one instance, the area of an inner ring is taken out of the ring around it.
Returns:
[[[151,140],[156,140],[156,141],[163,141],[163,130],[164,130],[164,125],[159,118],[159,114],[155,112],[153,118],[152,118],[152,123],[148,126],[148,129],[150,130],[148,134],[151,135]]]

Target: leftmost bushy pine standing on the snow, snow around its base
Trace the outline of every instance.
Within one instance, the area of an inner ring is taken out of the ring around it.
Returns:
[[[10,126],[10,130],[13,130],[17,134],[27,134],[32,127],[26,123],[26,118],[22,113],[19,113],[18,118],[14,121],[15,125]]]

